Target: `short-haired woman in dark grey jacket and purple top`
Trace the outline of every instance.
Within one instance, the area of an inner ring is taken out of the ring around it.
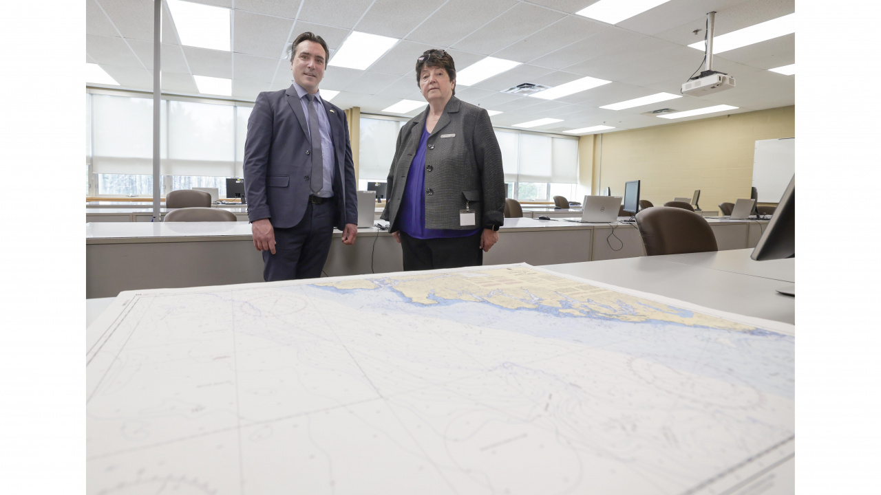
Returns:
[[[501,150],[486,110],[455,97],[455,64],[427,50],[416,80],[428,107],[403,126],[381,218],[401,243],[403,270],[479,266],[505,221]]]

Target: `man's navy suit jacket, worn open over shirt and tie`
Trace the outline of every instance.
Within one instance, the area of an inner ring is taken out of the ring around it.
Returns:
[[[345,224],[358,223],[349,126],[343,110],[323,99],[322,103],[328,111],[336,164],[332,198],[337,203],[335,226],[343,230]],[[300,223],[312,194],[312,157],[307,154],[311,149],[309,122],[297,91],[289,87],[257,95],[248,117],[243,164],[250,221],[270,218],[272,226],[279,228]]]

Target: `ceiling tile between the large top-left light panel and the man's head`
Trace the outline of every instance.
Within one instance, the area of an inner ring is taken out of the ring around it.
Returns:
[[[233,26],[233,51],[278,59],[285,53],[292,26],[291,19],[237,11]]]

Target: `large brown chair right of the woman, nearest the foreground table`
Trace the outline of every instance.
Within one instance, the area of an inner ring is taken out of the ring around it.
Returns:
[[[648,208],[636,214],[636,226],[649,256],[719,250],[707,220],[685,208]]]

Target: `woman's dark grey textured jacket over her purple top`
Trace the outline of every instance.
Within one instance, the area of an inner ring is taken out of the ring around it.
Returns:
[[[398,230],[397,214],[407,185],[407,174],[430,108],[413,117],[397,136],[395,158],[389,169],[388,197],[380,218]],[[459,211],[466,202],[476,210],[477,226],[493,228],[505,223],[505,174],[501,150],[492,122],[481,107],[455,96],[447,102],[435,124],[426,149],[426,227],[471,230],[463,226]]]

